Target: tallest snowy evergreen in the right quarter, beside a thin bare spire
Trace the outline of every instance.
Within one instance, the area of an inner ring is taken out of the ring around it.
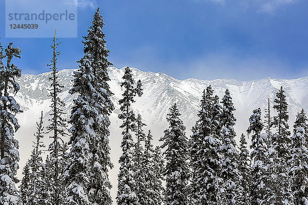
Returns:
[[[287,124],[288,112],[287,103],[282,87],[276,93],[274,99],[274,109],[277,116],[273,118],[273,127],[276,128],[276,134],[272,137],[272,146],[274,149],[273,177],[277,183],[273,183],[274,196],[273,204],[294,204],[290,189],[290,178],[287,176],[288,160],[290,159],[291,139],[289,126]]]

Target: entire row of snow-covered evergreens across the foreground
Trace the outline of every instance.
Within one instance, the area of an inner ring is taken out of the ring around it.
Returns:
[[[68,120],[64,118],[63,85],[57,78],[56,32],[52,39],[50,99],[51,113],[44,128],[43,112],[36,123],[33,151],[23,168],[20,190],[15,187],[18,169],[20,128],[15,115],[20,106],[11,94],[19,85],[21,70],[12,63],[21,49],[0,44],[0,203],[4,205],[111,205],[113,168],[109,147],[109,115],[114,110],[107,72],[108,60],[100,10],[94,14],[84,36],[84,56],[74,72],[75,96]],[[6,63],[4,60],[6,59]],[[262,120],[260,108],[249,117],[247,136],[237,135],[235,107],[228,89],[220,100],[208,86],[201,96],[198,120],[188,137],[177,104],[170,106],[169,126],[153,146],[151,131],[132,109],[142,96],[141,80],[124,69],[119,100],[123,121],[122,155],[119,159],[118,205],[307,205],[308,204],[308,125],[304,110],[297,114],[293,133],[289,131],[285,91],[277,92]],[[68,128],[67,125],[71,127]],[[52,139],[44,150],[44,135]],[[69,141],[64,136],[69,136]],[[236,142],[239,138],[239,145]],[[249,143],[250,144],[250,143]],[[42,154],[47,151],[43,160]]]

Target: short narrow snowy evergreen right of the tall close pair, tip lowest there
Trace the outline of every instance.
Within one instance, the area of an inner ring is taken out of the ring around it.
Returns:
[[[239,196],[237,204],[250,204],[249,186],[251,185],[251,159],[247,148],[247,141],[244,134],[240,138],[240,153],[238,155],[238,170],[239,170]]]

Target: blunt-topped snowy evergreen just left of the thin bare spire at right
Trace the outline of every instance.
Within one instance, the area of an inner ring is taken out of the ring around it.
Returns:
[[[263,122],[261,118],[261,109],[258,108],[253,111],[251,117],[249,117],[249,127],[247,129],[248,135],[252,135],[251,158],[253,161],[253,168],[251,172],[252,184],[251,184],[251,204],[268,204],[268,181],[266,176],[266,139],[261,135],[263,130]]]

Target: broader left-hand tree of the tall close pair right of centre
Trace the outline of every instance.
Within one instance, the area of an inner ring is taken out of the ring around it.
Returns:
[[[191,137],[191,204],[216,204],[219,202],[219,180],[218,169],[220,169],[220,156],[217,150],[221,142],[212,130],[212,121],[216,115],[211,112],[215,110],[213,89],[211,86],[203,91],[199,120],[192,129],[195,131]],[[217,106],[217,105],[215,105]]]

